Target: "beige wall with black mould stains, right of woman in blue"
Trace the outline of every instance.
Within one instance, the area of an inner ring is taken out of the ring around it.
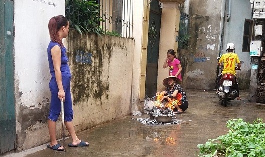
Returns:
[[[76,131],[130,114],[134,40],[70,30],[66,43]]]

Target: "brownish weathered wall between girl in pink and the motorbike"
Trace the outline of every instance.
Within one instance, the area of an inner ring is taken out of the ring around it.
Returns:
[[[221,0],[190,0],[187,88],[213,89],[220,35]],[[183,57],[183,56],[182,56]]]

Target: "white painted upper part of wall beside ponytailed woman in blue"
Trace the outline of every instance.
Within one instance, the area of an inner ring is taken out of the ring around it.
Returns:
[[[48,96],[48,22],[64,12],[65,0],[14,0],[15,86],[23,93],[23,105],[36,105]]]

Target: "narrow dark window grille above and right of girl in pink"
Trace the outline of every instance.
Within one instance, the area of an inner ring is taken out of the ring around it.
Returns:
[[[188,33],[189,29],[189,16],[186,13],[180,13],[180,24],[179,24],[179,40],[178,47],[182,49],[187,49],[188,39],[190,35]]]

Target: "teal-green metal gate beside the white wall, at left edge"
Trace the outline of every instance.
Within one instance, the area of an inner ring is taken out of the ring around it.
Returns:
[[[0,0],[0,154],[15,149],[13,0]]]

